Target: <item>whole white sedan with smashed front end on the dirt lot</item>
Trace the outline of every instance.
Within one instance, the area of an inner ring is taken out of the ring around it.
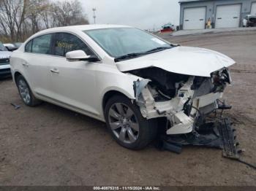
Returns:
[[[228,66],[219,52],[170,44],[129,26],[50,28],[12,53],[12,77],[28,106],[47,101],[107,123],[129,149],[195,132],[218,109]],[[201,117],[201,118],[200,118]]]

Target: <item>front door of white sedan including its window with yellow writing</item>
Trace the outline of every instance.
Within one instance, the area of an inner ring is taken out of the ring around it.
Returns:
[[[95,109],[97,87],[94,70],[102,63],[67,61],[65,55],[72,50],[83,50],[87,55],[94,55],[78,36],[56,33],[53,41],[54,58],[50,61],[52,98],[89,115],[97,115],[99,112]]]

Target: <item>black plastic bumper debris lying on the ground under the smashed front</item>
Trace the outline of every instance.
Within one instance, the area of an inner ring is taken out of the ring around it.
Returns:
[[[198,130],[182,135],[162,135],[158,147],[171,152],[181,153],[184,145],[214,147],[222,149],[224,157],[238,158],[238,142],[235,129],[228,118],[215,120],[201,125]]]

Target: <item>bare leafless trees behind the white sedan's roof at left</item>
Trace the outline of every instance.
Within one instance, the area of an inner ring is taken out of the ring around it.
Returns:
[[[0,40],[23,41],[44,28],[89,24],[80,1],[0,0]]]

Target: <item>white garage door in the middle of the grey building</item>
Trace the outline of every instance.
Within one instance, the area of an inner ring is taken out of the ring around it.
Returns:
[[[217,6],[215,28],[239,27],[241,4]]]

